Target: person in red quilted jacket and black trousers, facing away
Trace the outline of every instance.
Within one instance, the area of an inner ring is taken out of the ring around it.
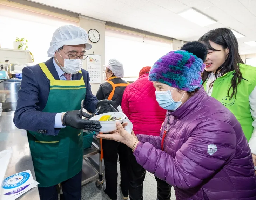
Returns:
[[[143,67],[140,70],[139,79],[128,85],[123,93],[122,110],[133,123],[135,135],[159,136],[160,128],[166,115],[166,110],[161,108],[156,101],[153,83],[148,80],[150,69],[151,67]],[[130,176],[129,197],[130,200],[142,200],[143,181],[146,170],[137,163],[132,150],[130,150],[128,156]],[[156,178],[156,181],[157,200],[169,200],[171,197],[171,186],[159,178]]]

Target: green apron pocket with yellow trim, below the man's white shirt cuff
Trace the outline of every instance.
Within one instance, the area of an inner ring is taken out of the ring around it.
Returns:
[[[58,157],[59,137],[34,134],[34,150],[31,151],[33,158],[52,159]]]

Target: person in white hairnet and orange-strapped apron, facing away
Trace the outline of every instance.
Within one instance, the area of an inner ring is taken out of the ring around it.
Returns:
[[[106,81],[100,85],[96,94],[98,100],[113,100],[116,103],[113,107],[121,105],[123,92],[129,83],[123,80],[123,64],[116,59],[109,60],[103,70],[103,79]],[[127,171],[126,155],[128,147],[125,144],[114,140],[102,140],[102,151],[104,155],[106,189],[104,192],[111,200],[117,199],[117,160],[120,161],[121,192],[123,199],[129,196],[129,177]]]

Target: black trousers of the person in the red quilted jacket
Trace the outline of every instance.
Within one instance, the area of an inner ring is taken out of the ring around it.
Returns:
[[[129,197],[130,200],[143,200],[143,181],[146,170],[137,163],[132,150],[128,154],[128,172],[130,177]],[[171,185],[155,177],[157,182],[157,200],[170,200]]]

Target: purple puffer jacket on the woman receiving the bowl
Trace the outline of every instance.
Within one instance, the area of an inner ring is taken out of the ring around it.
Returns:
[[[235,116],[203,88],[168,112],[170,129],[137,135],[137,162],[174,186],[177,200],[256,200],[249,145]],[[164,126],[163,125],[163,129]]]

